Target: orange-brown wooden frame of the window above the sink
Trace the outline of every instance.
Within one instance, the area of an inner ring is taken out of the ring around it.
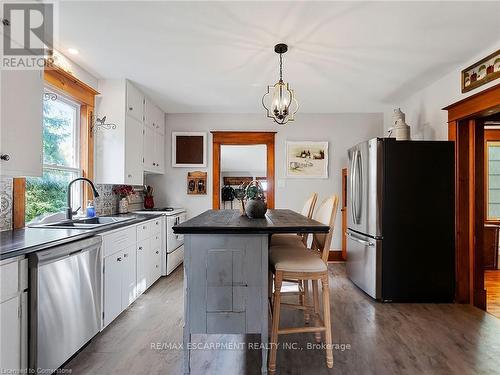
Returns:
[[[95,89],[65,70],[51,66],[44,70],[44,81],[48,86],[60,91],[80,104],[80,168],[82,177],[94,178],[94,117]],[[40,98],[42,100],[42,98]],[[89,186],[83,189],[83,202],[91,199]],[[26,211],[26,179],[14,178],[13,184],[13,229],[24,228]]]

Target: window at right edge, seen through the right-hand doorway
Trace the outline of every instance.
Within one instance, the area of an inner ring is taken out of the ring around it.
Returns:
[[[488,220],[500,220],[500,142],[486,143],[488,156]]]

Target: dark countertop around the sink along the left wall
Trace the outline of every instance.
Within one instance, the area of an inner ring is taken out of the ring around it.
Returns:
[[[133,219],[95,229],[23,228],[0,232],[0,260],[92,237],[99,233],[134,225],[146,220],[161,217],[162,215],[131,213],[112,216],[130,216],[133,217]]]

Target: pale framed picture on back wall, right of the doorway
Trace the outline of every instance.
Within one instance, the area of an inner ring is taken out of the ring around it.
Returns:
[[[328,142],[286,142],[286,177],[328,178]]]

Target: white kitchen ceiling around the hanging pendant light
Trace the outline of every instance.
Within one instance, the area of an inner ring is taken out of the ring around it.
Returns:
[[[70,1],[59,20],[63,52],[167,112],[262,112],[278,42],[300,111],[333,113],[379,111],[500,39],[500,2]]]

